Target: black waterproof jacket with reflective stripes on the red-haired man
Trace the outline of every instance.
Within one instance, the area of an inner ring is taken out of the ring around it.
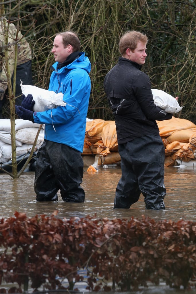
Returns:
[[[172,118],[172,114],[155,105],[150,79],[140,68],[120,57],[104,79],[119,144],[145,135],[159,135],[156,120]]]

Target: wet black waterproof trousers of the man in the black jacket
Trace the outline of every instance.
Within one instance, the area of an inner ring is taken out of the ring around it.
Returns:
[[[130,208],[140,193],[146,209],[165,209],[165,148],[160,136],[149,135],[118,144],[122,176],[118,182],[114,208]]]

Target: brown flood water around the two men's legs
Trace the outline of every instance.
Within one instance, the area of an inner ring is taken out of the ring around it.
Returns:
[[[165,168],[165,211],[145,210],[143,196],[130,209],[113,209],[115,188],[121,176],[119,167],[98,168],[97,173],[87,173],[85,168],[82,187],[86,192],[84,203],[65,203],[58,194],[58,202],[36,202],[34,172],[23,173],[19,179],[12,179],[9,175],[0,174],[1,209],[0,219],[14,216],[15,211],[26,213],[31,218],[36,214],[50,216],[58,211],[58,218],[71,218],[72,216],[97,218],[141,218],[142,215],[155,220],[171,219],[196,220],[196,168]],[[119,294],[118,292],[115,292]],[[134,294],[145,293],[195,293],[195,291],[170,289],[163,285],[153,286]],[[103,292],[101,293],[103,294]],[[125,294],[125,293],[124,293]]]

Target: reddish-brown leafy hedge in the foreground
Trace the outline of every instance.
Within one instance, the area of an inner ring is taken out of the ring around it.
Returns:
[[[63,289],[63,279],[84,280],[87,289],[136,290],[165,281],[174,288],[193,288],[196,278],[196,224],[150,218],[58,219],[24,213],[0,220],[0,293],[31,288]],[[112,281],[112,286],[111,285]],[[109,283],[110,282],[110,283]],[[75,290],[77,290],[75,288]]]

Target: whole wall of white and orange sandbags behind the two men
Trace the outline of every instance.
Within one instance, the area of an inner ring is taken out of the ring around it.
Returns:
[[[196,125],[182,118],[157,121],[165,146],[165,166],[174,166],[176,160],[189,162],[196,158]],[[39,124],[16,119],[16,156],[31,151]],[[0,163],[11,160],[11,125],[9,119],[0,119]],[[38,136],[36,148],[44,140],[44,125]],[[36,151],[36,150],[35,150]],[[97,165],[120,161],[115,121],[88,119],[82,155],[98,155]],[[101,158],[101,159],[100,159]]]

